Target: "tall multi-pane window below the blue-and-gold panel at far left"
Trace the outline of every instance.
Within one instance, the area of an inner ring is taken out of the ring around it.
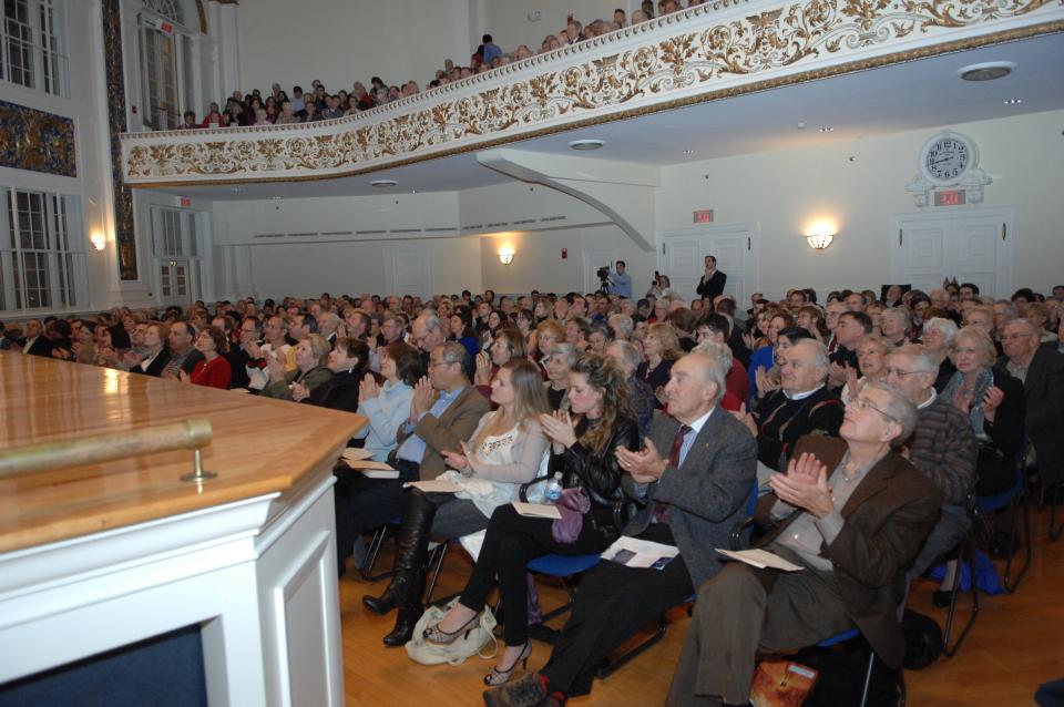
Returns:
[[[69,309],[88,299],[76,196],[0,188],[0,310]]]

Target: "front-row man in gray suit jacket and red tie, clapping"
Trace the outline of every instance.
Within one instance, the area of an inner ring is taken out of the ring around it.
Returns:
[[[679,556],[663,568],[602,562],[589,572],[546,666],[484,693],[489,706],[546,706],[591,691],[605,657],[720,570],[714,547],[727,547],[757,469],[750,432],[717,407],[727,372],[718,356],[677,360],[665,386],[673,417],[655,412],[645,448],[617,451],[625,491],[645,503],[624,533],[675,545]]]

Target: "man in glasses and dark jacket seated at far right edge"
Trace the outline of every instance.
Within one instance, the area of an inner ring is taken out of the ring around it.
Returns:
[[[1023,381],[1027,437],[1044,484],[1064,481],[1064,354],[1041,346],[1041,332],[1026,319],[1005,325],[998,361]]]

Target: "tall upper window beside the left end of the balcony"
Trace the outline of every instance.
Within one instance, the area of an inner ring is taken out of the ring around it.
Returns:
[[[155,130],[181,125],[192,105],[192,35],[176,0],[144,0],[140,14],[144,124]]]

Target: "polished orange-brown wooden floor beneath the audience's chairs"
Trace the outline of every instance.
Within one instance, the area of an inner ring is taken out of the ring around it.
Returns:
[[[1034,705],[1037,686],[1064,677],[1064,539],[1050,543],[1048,513],[1033,510],[1034,559],[1026,578],[1013,595],[981,596],[979,619],[956,657],[940,658],[931,667],[906,674],[909,705],[917,707]],[[391,546],[385,552],[390,553]],[[386,560],[390,562],[390,557]],[[457,592],[469,574],[469,560],[448,555],[438,595]],[[480,705],[481,677],[492,663],[473,658],[459,667],[422,666],[407,658],[402,648],[385,648],[381,636],[390,631],[395,614],[375,616],[362,607],[361,596],[377,593],[385,581],[370,584],[360,578],[340,581],[344,666],[347,704]],[[913,587],[910,607],[940,622],[944,609],[931,605],[930,582]],[[562,598],[561,588],[541,590],[545,608]],[[966,609],[966,598],[961,600]],[[623,667],[607,680],[596,680],[592,695],[572,700],[579,707],[647,707],[664,703],[676,666],[688,618],[676,612],[665,639]],[[535,643],[531,669],[542,666],[550,646]]]

